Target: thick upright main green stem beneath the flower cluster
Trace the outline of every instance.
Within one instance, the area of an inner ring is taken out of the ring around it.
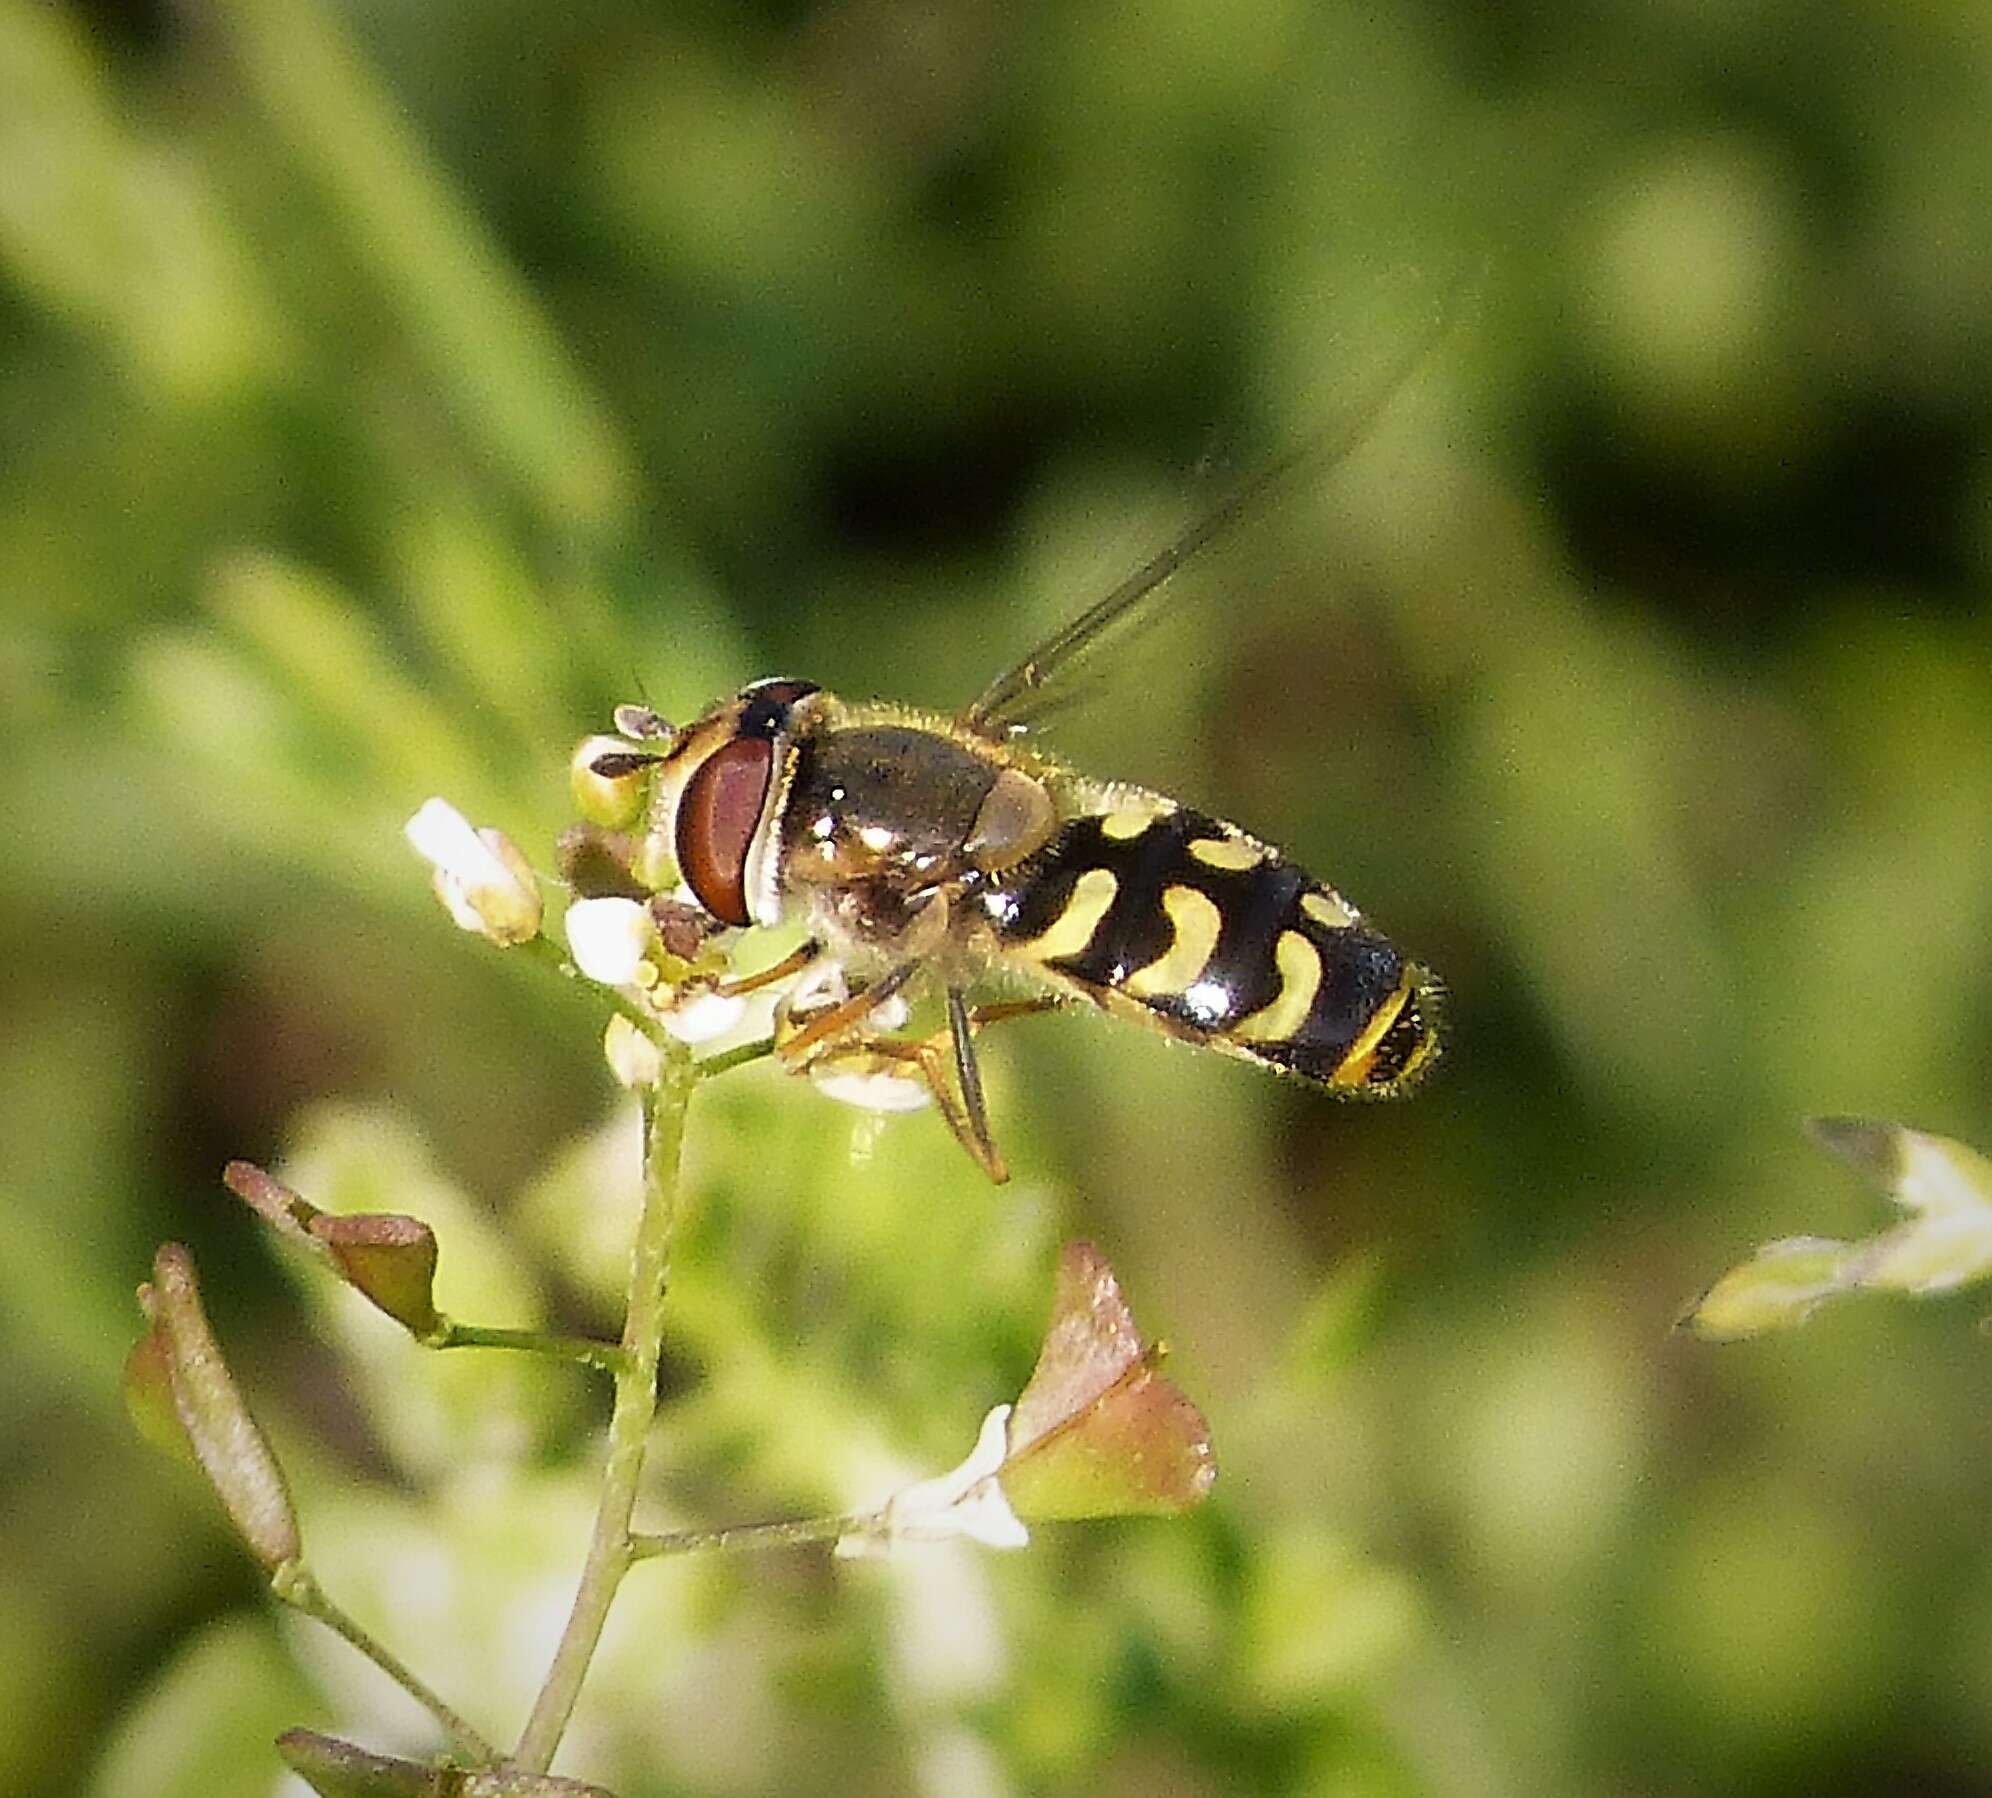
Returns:
[[[588,1543],[582,1583],[574,1593],[568,1629],[554,1651],[546,1685],[534,1700],[514,1762],[526,1772],[546,1772],[574,1714],[588,1663],[608,1621],[616,1587],[629,1571],[629,1517],[635,1511],[643,1448],[657,1412],[657,1352],[663,1340],[663,1278],[669,1264],[671,1225],[677,1211],[679,1159],[685,1145],[685,1107],[699,1081],[691,1053],[675,1041],[659,1045],[657,1085],[643,1093],[643,1215],[629,1252],[629,1306],[623,1314],[622,1362],[616,1368],[616,1404],[610,1412],[610,1448],[602,1469],[602,1499]]]

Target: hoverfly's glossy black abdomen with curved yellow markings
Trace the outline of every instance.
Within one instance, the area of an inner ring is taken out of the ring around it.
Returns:
[[[1438,986],[1233,824],[1147,794],[1074,818],[984,894],[998,940],[1112,1010],[1343,1093],[1438,1053]]]

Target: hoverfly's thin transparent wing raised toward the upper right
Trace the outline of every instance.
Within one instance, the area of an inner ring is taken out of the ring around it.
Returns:
[[[1285,456],[1231,488],[1177,538],[1163,544],[1123,581],[1086,607],[1068,625],[1038,643],[1022,661],[1000,673],[960,713],[960,723],[984,737],[1014,737],[1038,729],[1052,713],[1094,691],[1094,673],[1108,655],[1116,659],[1167,609],[1169,579],[1245,520],[1263,514],[1283,494],[1317,480],[1341,462],[1396,398],[1410,374],[1452,323],[1448,295],[1388,364],[1384,378],[1353,412],[1301,440]]]

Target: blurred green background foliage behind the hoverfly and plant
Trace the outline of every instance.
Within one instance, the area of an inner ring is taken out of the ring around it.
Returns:
[[[639,693],[960,703],[1388,392],[1070,741],[1438,966],[1442,1075],[1339,1107],[1030,1019],[1002,1191],[930,1115],[729,1077],[641,1515],[952,1463],[1076,1235],[1217,1499],[641,1567],[562,1764],[1984,1792],[1970,1300],[1669,1324],[1880,1221],[1807,1113],[1992,1145],[1988,117],[1982,4],[0,0],[0,1790],[426,1748],[131,1436],[161,1236],[331,1589],[488,1730],[538,1681],[602,1394],[422,1360],[215,1179],[281,1159],[432,1219],[454,1310],[616,1326],[598,1017],[400,820],[548,866]]]

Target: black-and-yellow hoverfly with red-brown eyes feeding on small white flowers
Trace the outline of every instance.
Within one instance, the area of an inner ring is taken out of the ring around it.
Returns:
[[[793,978],[783,1063],[918,1081],[994,1181],[1008,1173],[974,1035],[1022,1011],[1086,1000],[1345,1097],[1394,1097],[1426,1073],[1440,984],[1335,888],[1237,824],[1096,781],[1028,735],[1056,679],[1301,460],[1233,494],[954,715],[797,679],[755,681],[683,727],[618,709],[635,741],[594,771],[647,771],[647,832],[697,928],[805,928],[775,968],[721,984]],[[972,1006],[992,984],[1024,998]],[[938,990],[946,1025],[900,1037],[918,990]]]

